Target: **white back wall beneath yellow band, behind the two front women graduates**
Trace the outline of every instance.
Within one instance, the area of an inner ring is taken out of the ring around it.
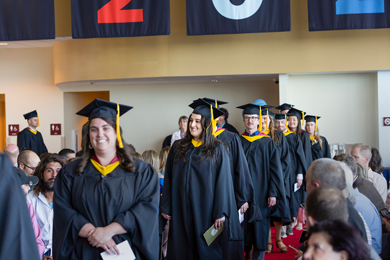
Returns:
[[[229,123],[243,132],[242,110],[236,106],[252,103],[259,98],[277,104],[279,99],[277,84],[272,80],[122,85],[96,83],[60,88],[64,92],[110,91],[111,101],[134,106],[120,117],[120,125],[124,139],[132,143],[139,153],[146,149],[159,152],[164,138],[178,130],[179,117],[188,117],[192,112],[188,106],[192,100],[207,97],[228,101],[229,104],[223,107],[229,111]],[[64,103],[65,111],[67,106]],[[69,138],[66,135],[65,139]]]

